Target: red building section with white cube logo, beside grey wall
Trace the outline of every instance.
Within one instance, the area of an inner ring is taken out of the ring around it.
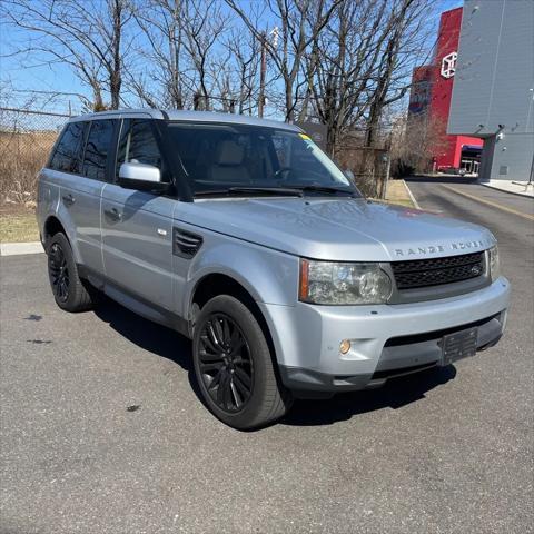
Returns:
[[[477,172],[482,140],[476,137],[448,136],[446,132],[462,24],[462,8],[442,13],[434,59],[416,67],[409,96],[408,115],[427,113],[438,142],[433,155],[435,170],[463,169]]]

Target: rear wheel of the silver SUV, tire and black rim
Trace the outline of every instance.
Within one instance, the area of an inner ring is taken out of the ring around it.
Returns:
[[[48,277],[56,304],[66,312],[87,312],[92,300],[78,267],[70,243],[62,233],[55,234],[47,244]]]

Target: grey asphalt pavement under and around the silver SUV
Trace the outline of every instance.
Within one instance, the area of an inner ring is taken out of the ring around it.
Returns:
[[[42,254],[1,257],[0,533],[533,532],[534,222],[444,186],[533,201],[409,182],[498,238],[502,342],[255,433],[206,411],[178,334],[111,301],[66,314]]]

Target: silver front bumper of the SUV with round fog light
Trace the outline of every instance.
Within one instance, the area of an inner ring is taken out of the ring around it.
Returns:
[[[510,284],[425,303],[380,306],[296,306],[260,304],[281,379],[294,390],[338,392],[382,385],[441,359],[445,334],[478,327],[477,348],[501,337]],[[339,343],[350,340],[347,354]]]

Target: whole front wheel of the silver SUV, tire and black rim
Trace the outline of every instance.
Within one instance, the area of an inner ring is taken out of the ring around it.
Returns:
[[[202,307],[192,358],[204,402],[228,426],[240,431],[266,426],[293,404],[277,379],[261,327],[237,298],[220,295]]]

